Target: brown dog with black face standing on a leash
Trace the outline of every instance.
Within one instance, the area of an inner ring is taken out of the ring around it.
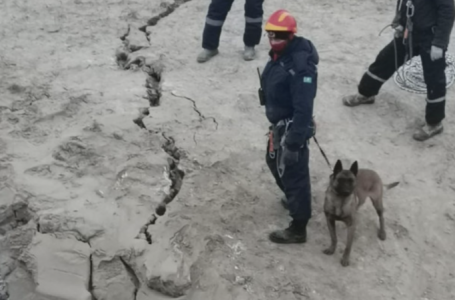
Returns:
[[[329,186],[325,193],[324,213],[329,227],[331,245],[323,251],[324,254],[332,255],[335,252],[337,245],[335,221],[342,221],[347,226],[348,237],[341,265],[344,267],[349,265],[349,256],[357,224],[357,210],[365,203],[367,197],[373,202],[379,216],[378,237],[385,240],[384,208],[382,206],[383,187],[388,190],[398,184],[399,182],[394,182],[383,186],[381,178],[375,171],[359,170],[357,161],[352,164],[350,170],[343,170],[343,165],[338,160],[333,169],[333,174],[330,175]]]

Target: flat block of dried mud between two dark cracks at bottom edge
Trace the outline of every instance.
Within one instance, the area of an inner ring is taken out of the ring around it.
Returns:
[[[92,255],[92,288],[97,300],[133,300],[139,282],[131,278],[125,267],[126,261],[119,256],[103,253]]]

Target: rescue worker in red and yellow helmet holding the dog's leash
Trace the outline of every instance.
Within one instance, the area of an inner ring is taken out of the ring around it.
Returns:
[[[274,12],[265,30],[270,60],[261,75],[265,113],[271,125],[266,162],[285,194],[289,227],[270,233],[275,243],[305,243],[311,218],[308,140],[314,135],[313,100],[319,56],[311,41],[296,36],[297,23],[286,10]]]

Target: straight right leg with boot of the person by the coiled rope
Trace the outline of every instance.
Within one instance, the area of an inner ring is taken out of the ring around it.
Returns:
[[[445,118],[446,105],[446,60],[432,61],[430,50],[421,51],[423,77],[427,86],[427,104],[425,108],[426,125],[413,135],[415,140],[424,141],[443,131],[442,120]]]

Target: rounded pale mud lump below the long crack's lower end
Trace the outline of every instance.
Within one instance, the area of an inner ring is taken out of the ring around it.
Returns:
[[[147,286],[166,296],[180,297],[191,287],[190,266],[183,253],[154,247],[144,263]]]

